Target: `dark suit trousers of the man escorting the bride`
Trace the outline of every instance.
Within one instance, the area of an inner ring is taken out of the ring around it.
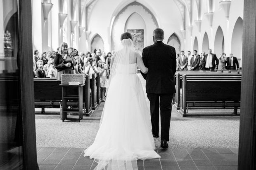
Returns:
[[[152,133],[159,134],[159,104],[161,115],[161,140],[169,141],[173,94],[147,93],[150,101]],[[159,102],[160,99],[160,102]]]

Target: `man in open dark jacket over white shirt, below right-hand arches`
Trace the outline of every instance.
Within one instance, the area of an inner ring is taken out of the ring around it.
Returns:
[[[203,59],[203,65],[205,70],[212,70],[218,68],[219,60],[216,57],[216,54],[211,53],[211,49],[208,50],[208,54]]]

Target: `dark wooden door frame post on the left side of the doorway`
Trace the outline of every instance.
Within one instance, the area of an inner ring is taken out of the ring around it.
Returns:
[[[36,123],[33,82],[33,42],[31,0],[17,0],[19,29],[19,65],[21,115],[23,130],[23,165],[25,170],[37,170]],[[41,18],[40,18],[41,19]]]

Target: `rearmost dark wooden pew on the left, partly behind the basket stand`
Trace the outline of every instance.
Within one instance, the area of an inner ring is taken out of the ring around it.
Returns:
[[[59,84],[61,84],[61,81],[56,79],[34,78],[35,106],[42,108],[41,113],[45,112],[45,107],[59,107],[59,103],[62,102],[62,88]],[[75,94],[77,92],[76,89],[71,89],[69,93]],[[89,116],[92,113],[90,95],[89,75],[85,75],[83,103],[86,116]],[[67,105],[76,107],[78,102],[76,100],[70,100]]]

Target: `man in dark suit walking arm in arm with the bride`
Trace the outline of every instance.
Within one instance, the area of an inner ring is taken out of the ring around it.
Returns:
[[[142,74],[146,80],[146,92],[150,101],[150,114],[153,137],[159,137],[159,99],[161,114],[161,147],[168,148],[173,93],[176,71],[175,48],[163,43],[164,30],[153,32],[154,44],[142,51],[142,60],[149,69]]]

